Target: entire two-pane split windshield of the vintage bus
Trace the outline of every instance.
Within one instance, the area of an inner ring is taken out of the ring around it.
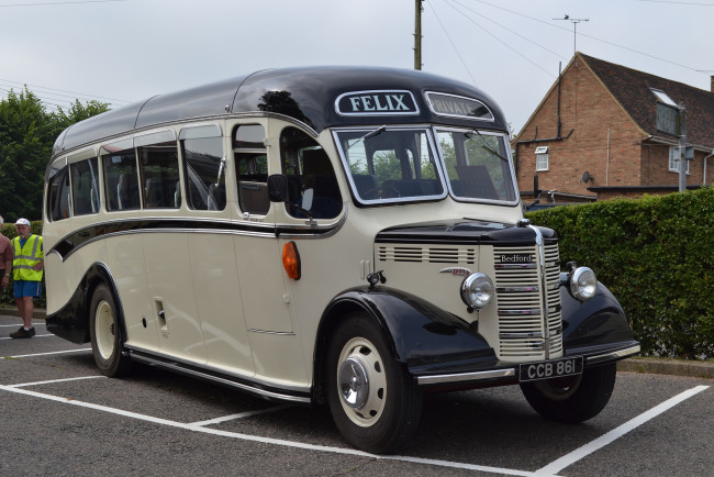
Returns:
[[[335,138],[357,199],[366,204],[434,200],[516,202],[504,134],[427,127],[338,130]],[[446,177],[444,177],[446,175]]]

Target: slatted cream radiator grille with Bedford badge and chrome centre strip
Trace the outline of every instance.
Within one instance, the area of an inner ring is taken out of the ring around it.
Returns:
[[[544,359],[562,351],[557,243],[544,255],[545,289],[537,246],[493,248],[501,357]]]

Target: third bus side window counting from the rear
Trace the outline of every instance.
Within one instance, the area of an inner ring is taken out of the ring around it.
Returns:
[[[140,208],[136,154],[133,147],[126,146],[131,147],[131,141],[122,142],[119,146],[108,145],[102,149],[104,195],[109,211]]]

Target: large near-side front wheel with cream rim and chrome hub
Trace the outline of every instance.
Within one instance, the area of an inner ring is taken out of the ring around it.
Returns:
[[[422,413],[422,392],[366,314],[345,319],[327,352],[327,402],[342,435],[383,454],[403,447]]]

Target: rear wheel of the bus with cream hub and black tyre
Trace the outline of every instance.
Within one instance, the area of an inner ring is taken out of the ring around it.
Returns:
[[[89,313],[89,334],[97,367],[109,377],[127,374],[132,363],[129,356],[122,355],[124,340],[114,296],[107,285],[94,289]]]

